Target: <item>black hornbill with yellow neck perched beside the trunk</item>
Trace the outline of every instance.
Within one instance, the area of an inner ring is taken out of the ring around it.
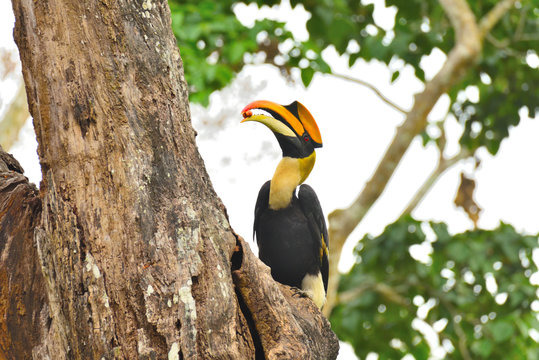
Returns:
[[[262,185],[256,200],[253,236],[258,257],[270,267],[274,280],[296,288],[321,309],[328,287],[329,238],[318,197],[303,183],[313,169],[315,148],[322,147],[318,125],[298,101],[279,105],[258,100],[241,114],[242,123],[266,125],[282,150],[273,177]]]

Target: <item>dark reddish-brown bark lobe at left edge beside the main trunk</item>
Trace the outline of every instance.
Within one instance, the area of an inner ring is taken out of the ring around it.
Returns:
[[[44,279],[33,243],[41,211],[37,189],[0,147],[0,359],[30,359],[47,328]]]

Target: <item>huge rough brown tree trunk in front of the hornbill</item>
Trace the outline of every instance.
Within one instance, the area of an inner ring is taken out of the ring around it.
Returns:
[[[13,7],[43,181],[0,187],[0,358],[335,358],[325,318],[230,228],[167,2]],[[23,285],[32,319],[5,321]]]

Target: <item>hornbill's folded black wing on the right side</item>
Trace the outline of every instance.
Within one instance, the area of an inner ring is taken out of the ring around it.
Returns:
[[[322,212],[322,207],[313,188],[307,184],[299,187],[298,199],[303,213],[309,221],[309,228],[312,236],[317,240],[317,253],[320,254],[320,272],[324,281],[324,288],[327,291],[329,273],[329,237],[326,227],[326,219]]]

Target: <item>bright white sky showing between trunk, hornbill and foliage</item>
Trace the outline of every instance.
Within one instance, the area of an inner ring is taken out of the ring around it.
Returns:
[[[257,14],[254,7],[237,8],[245,22]],[[308,15],[301,9],[268,12],[280,20],[289,21],[289,27],[298,37],[305,37]],[[392,11],[377,11],[377,21],[391,27]],[[8,1],[0,2],[0,46],[14,48],[12,40],[13,15]],[[377,62],[360,63],[347,67],[346,59],[327,51],[324,56],[335,71],[349,74],[375,84],[387,97],[405,108],[410,108],[414,93],[422,84],[414,78],[411,69],[389,85],[387,68]],[[443,63],[440,53],[426,61],[427,76],[432,77]],[[0,104],[10,101],[14,82],[0,84]],[[539,96],[539,94],[538,94]],[[223,199],[231,224],[252,247],[253,210],[258,189],[270,179],[280,157],[280,149],[273,135],[262,125],[239,124],[240,111],[247,102],[267,99],[281,104],[301,101],[311,111],[322,133],[324,147],[317,150],[317,164],[307,182],[318,193],[326,215],[336,208],[349,205],[372,175],[389,145],[395,128],[403,116],[385,105],[370,90],[330,76],[315,75],[308,90],[288,84],[271,66],[248,66],[227,89],[212,95],[209,110],[193,106],[193,123],[199,131],[198,145],[205,159],[212,182]],[[431,114],[439,119],[447,109],[448,100],[442,98]],[[0,110],[2,110],[0,108]],[[201,123],[209,122],[207,127]],[[212,126],[225,124],[224,129]],[[459,124],[449,120],[448,152],[458,151]],[[512,224],[518,231],[539,233],[539,121],[522,113],[521,124],[510,130],[498,155],[479,151],[480,168],[473,172],[473,161],[464,162],[444,174],[427,194],[413,215],[422,220],[444,221],[451,232],[471,229],[472,223],[462,210],[456,209],[453,199],[459,184],[460,172],[475,178],[475,198],[483,208],[479,220],[481,228],[492,229],[500,221]],[[38,183],[41,174],[36,155],[36,141],[31,122],[23,129],[20,140],[11,149],[21,162],[26,175]],[[269,153],[261,155],[261,149]],[[437,150],[424,148],[416,139],[403,161],[360,226],[354,231],[343,251],[340,269],[346,271],[352,264],[352,248],[366,233],[378,234],[397,219],[417,188],[435,168]],[[537,261],[537,253],[536,253]],[[349,347],[341,350],[339,359],[353,359]]]

